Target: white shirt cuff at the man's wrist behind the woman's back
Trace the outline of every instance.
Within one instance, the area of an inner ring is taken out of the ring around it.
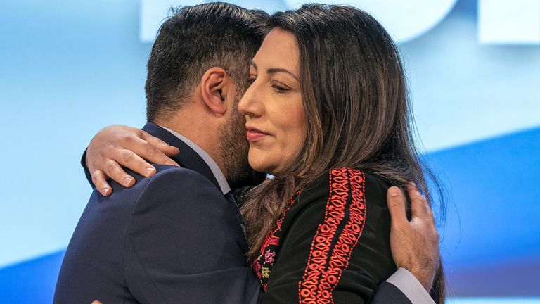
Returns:
[[[386,281],[396,286],[413,304],[435,304],[418,279],[405,268],[399,268]]]

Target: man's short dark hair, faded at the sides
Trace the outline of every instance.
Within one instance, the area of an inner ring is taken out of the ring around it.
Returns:
[[[268,14],[214,2],[171,9],[148,59],[146,118],[167,119],[191,95],[204,72],[224,68],[238,89],[266,34]]]

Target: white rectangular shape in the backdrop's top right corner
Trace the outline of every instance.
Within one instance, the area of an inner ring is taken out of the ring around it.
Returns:
[[[540,44],[540,0],[478,0],[484,44]]]

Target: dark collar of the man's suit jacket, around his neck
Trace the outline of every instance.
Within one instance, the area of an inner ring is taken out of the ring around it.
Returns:
[[[163,129],[158,125],[155,125],[152,122],[148,122],[143,127],[143,131],[147,132],[152,136],[158,137],[159,139],[165,141],[171,146],[179,148],[180,153],[172,157],[172,159],[176,161],[176,163],[181,165],[181,167],[185,167],[195,172],[199,172],[201,175],[209,179],[210,182],[212,182],[212,184],[214,184],[214,186],[216,186],[217,189],[219,189],[219,191],[221,192],[221,187],[219,186],[216,177],[214,177],[212,170],[210,170],[210,167],[208,167],[205,160],[203,160],[203,158],[201,158],[197,154],[197,152],[193,151],[190,146],[184,143],[184,141],[181,141],[181,139],[174,136],[174,134],[171,134],[171,132]]]

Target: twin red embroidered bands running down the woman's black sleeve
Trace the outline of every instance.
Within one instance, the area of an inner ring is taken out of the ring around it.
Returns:
[[[330,196],[326,203],[324,223],[319,224],[311,243],[304,277],[298,283],[300,303],[333,303],[332,291],[338,285],[342,271],[347,269],[352,249],[364,229],[364,179],[364,174],[356,170],[330,170]],[[331,248],[338,226],[345,217],[349,191],[352,194],[349,219]]]

